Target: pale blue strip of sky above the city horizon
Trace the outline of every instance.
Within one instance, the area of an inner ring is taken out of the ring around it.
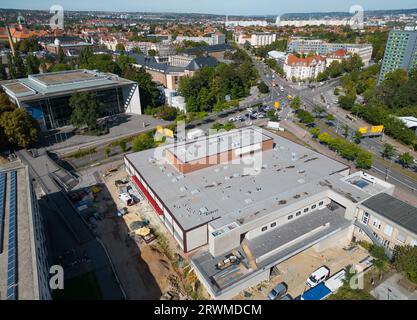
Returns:
[[[348,12],[352,5],[366,10],[414,9],[416,0],[0,0],[0,8],[280,15],[306,12]]]

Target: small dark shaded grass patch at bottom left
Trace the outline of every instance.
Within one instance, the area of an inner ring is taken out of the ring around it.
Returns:
[[[66,280],[64,290],[55,290],[55,300],[100,300],[100,287],[93,272]]]

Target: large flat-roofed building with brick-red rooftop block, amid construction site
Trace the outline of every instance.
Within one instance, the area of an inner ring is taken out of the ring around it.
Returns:
[[[357,221],[366,211],[359,206],[394,191],[258,127],[129,154],[125,164],[216,299],[268,280],[277,264],[310,247],[372,236]],[[239,263],[225,266],[230,257]]]

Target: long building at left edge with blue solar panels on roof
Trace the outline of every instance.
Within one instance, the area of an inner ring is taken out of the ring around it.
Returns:
[[[0,300],[49,300],[43,218],[28,167],[0,168]]]

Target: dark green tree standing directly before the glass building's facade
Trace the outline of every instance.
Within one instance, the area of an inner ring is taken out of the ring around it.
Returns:
[[[70,122],[77,128],[87,126],[89,130],[97,128],[100,116],[100,103],[97,96],[88,92],[74,93],[69,101],[72,109]]]

